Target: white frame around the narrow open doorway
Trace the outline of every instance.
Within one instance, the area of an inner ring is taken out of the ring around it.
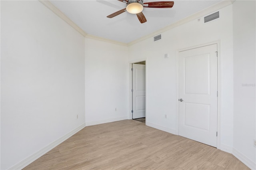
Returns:
[[[134,61],[130,61],[129,62],[129,73],[130,73],[130,87],[129,87],[129,94],[130,94],[130,107],[129,107],[129,118],[128,119],[132,119],[132,64],[134,63],[138,63],[138,62],[141,62],[141,61],[146,61],[146,76],[145,76],[145,79],[146,79],[146,123],[147,124],[147,58],[145,59],[140,59],[140,60],[134,60]]]

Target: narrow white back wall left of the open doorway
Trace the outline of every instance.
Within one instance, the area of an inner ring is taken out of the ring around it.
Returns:
[[[85,39],[86,126],[128,119],[127,50]]]

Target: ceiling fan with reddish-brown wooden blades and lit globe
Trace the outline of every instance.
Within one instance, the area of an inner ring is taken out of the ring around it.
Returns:
[[[161,1],[161,2],[146,2],[143,3],[143,0],[118,0],[120,2],[126,3],[126,8],[114,12],[107,16],[108,18],[113,18],[114,16],[118,16],[123,12],[129,12],[131,14],[136,14],[140,23],[147,22],[144,14],[142,13],[143,8],[172,8],[174,5],[173,1]]]

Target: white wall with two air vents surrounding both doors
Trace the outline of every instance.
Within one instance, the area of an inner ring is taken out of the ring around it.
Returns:
[[[233,146],[233,32],[232,6],[208,23],[197,20],[162,33],[162,40],[149,38],[129,46],[129,61],[147,58],[147,121],[151,126],[176,132],[176,52],[220,40],[221,59],[221,148]],[[169,53],[169,58],[164,54]],[[164,115],[167,115],[167,119]],[[229,150],[231,152],[231,150]]]

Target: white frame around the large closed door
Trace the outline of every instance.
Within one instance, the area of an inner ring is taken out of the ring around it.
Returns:
[[[204,43],[201,45],[195,45],[192,47],[187,47],[183,49],[178,49],[176,51],[176,134],[179,135],[179,53],[181,51],[186,51],[190,49],[195,49],[199,47],[204,47],[208,45],[217,44],[217,51],[218,51],[218,61],[217,61],[217,67],[218,67],[218,102],[217,102],[217,148],[220,149],[220,138],[221,138],[221,96],[222,96],[222,89],[221,89],[221,50],[220,50],[220,40],[217,40],[215,42],[210,43]]]

